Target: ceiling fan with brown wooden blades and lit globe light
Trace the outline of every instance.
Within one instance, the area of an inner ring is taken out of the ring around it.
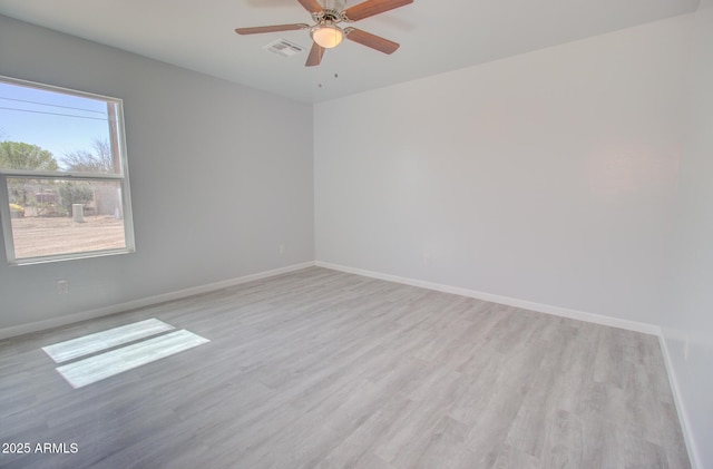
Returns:
[[[297,0],[305,10],[312,14],[314,25],[294,23],[294,25],[275,25],[258,26],[255,28],[237,28],[235,32],[238,35],[257,35],[262,32],[294,31],[299,29],[309,29],[312,36],[312,49],[305,63],[306,67],[320,65],[324,49],[331,49],[339,46],[344,38],[359,42],[362,46],[370,47],[383,53],[393,53],[399,45],[389,39],[381,38],[356,28],[340,28],[341,22],[354,22],[404,4],[413,3],[413,0],[367,0],[348,9],[343,9],[342,1],[325,1],[325,7],[316,0]],[[335,4],[332,4],[335,3]]]

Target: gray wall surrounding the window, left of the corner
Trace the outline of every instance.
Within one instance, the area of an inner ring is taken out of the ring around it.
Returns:
[[[7,17],[0,75],[124,99],[137,247],[0,262],[0,330],[314,260],[311,106]]]

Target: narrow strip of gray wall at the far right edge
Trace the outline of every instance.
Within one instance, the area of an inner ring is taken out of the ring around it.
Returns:
[[[688,133],[681,165],[673,294],[663,320],[701,468],[713,467],[713,3],[692,27]],[[697,443],[697,444],[696,444]]]

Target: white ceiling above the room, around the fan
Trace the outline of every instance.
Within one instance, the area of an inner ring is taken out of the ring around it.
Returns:
[[[323,0],[320,0],[323,1]],[[346,7],[361,0],[348,0]],[[700,0],[414,0],[353,26],[401,43],[387,56],[352,41],[304,67],[311,23],[297,0],[0,0],[0,13],[305,102],[482,63],[695,11]],[[305,51],[263,50],[285,38]]]

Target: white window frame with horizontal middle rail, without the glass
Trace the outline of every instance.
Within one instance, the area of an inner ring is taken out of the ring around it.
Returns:
[[[52,172],[52,170],[25,170],[0,168],[0,221],[2,224],[2,236],[4,241],[6,257],[9,265],[40,264],[58,261],[71,261],[87,257],[100,257],[116,254],[128,254],[136,252],[134,240],[134,217],[131,214],[131,196],[129,190],[128,158],[126,152],[126,133],[124,127],[124,100],[105,95],[97,95],[76,89],[58,87],[53,85],[40,84],[36,81],[22,80],[0,75],[0,82],[30,87],[43,91],[58,92],[62,95],[77,96],[102,100],[114,104],[116,116],[109,123],[109,136],[111,141],[111,154],[115,164],[115,174],[88,173],[88,172]],[[115,155],[114,153],[118,154]],[[118,165],[116,163],[118,158]],[[10,196],[8,193],[8,178],[22,177],[27,179],[51,179],[51,180],[89,180],[89,182],[118,182],[120,188],[121,215],[124,222],[124,247],[97,251],[82,251],[65,254],[40,255],[33,257],[16,257],[14,237],[12,234],[12,219],[10,215]]]

